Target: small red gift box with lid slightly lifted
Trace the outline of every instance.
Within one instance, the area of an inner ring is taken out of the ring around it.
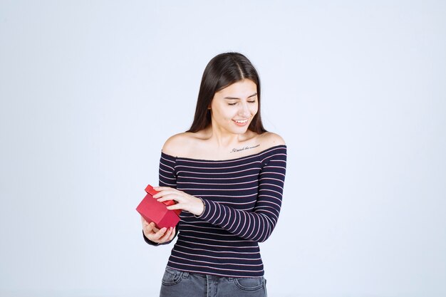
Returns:
[[[157,229],[174,227],[180,222],[181,209],[167,209],[167,206],[175,204],[173,200],[157,201],[153,198],[157,191],[150,184],[145,188],[145,192],[147,192],[147,195],[136,207],[136,210],[147,222],[154,222]]]

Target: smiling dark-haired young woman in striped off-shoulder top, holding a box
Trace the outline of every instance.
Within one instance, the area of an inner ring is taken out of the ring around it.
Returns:
[[[162,147],[154,198],[175,200],[179,224],[155,228],[145,241],[178,236],[162,278],[161,297],[266,296],[259,242],[279,219],[286,169],[284,140],[260,117],[260,80],[240,53],[209,61],[190,130]]]

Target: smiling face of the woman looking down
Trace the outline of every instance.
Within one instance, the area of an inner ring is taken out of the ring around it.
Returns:
[[[212,125],[226,132],[242,134],[259,109],[257,85],[240,80],[215,93],[211,103]]]

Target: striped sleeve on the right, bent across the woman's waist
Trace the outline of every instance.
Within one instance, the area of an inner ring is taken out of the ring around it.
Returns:
[[[252,211],[234,209],[219,202],[202,199],[204,212],[197,218],[251,241],[263,242],[279,219],[286,173],[286,147],[261,160],[259,191]]]

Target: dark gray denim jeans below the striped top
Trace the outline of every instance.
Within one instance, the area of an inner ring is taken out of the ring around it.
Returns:
[[[266,297],[266,279],[210,276],[167,266],[160,297]]]

